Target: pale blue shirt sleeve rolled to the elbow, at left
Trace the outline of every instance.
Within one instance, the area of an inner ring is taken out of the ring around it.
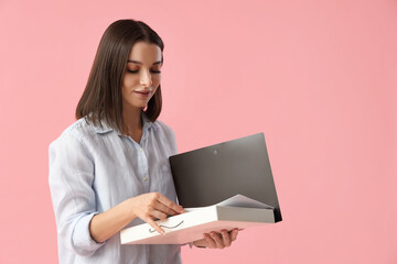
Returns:
[[[72,132],[62,134],[49,148],[49,184],[57,234],[78,255],[93,255],[104,243],[90,237],[89,223],[96,211],[94,161]]]

